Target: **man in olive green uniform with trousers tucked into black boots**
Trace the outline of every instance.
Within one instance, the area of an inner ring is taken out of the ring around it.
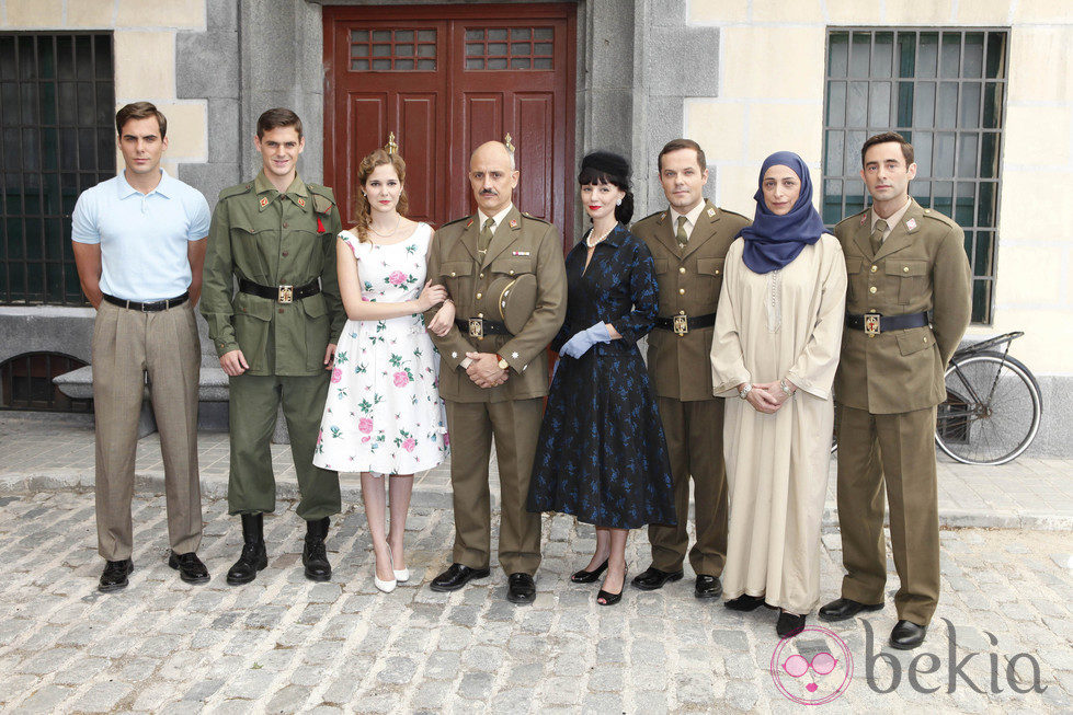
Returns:
[[[244,546],[227,574],[247,584],[267,565],[263,515],[275,509],[270,440],[283,403],[306,520],[306,576],[331,578],[324,547],[340,512],[339,475],[312,464],[335,342],[345,315],[335,277],[341,224],[332,191],[306,184],[296,163],[301,120],[269,109],[254,140],[256,178],[220,192],[209,230],[202,313],[229,376],[228,510],[242,517]],[[238,292],[232,296],[232,276]]]

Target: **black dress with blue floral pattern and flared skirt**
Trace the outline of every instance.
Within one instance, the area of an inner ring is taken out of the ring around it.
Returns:
[[[598,322],[623,338],[560,357],[527,507],[616,529],[673,524],[666,438],[637,348],[659,313],[652,254],[621,226],[596,244],[587,268],[586,252],[582,241],[567,255],[567,319],[551,349]]]

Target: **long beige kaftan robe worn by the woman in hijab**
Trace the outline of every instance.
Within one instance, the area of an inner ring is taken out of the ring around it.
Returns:
[[[755,274],[742,239],[727,253],[711,344],[711,382],[727,400],[723,453],[730,535],[723,593],[763,596],[804,614],[820,598],[820,519],[845,322],[846,264],[824,234],[789,265]],[[738,399],[742,382],[787,378],[797,393],[774,415]]]

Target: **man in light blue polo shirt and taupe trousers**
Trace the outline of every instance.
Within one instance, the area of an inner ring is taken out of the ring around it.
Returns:
[[[160,434],[168,504],[168,565],[190,584],[208,580],[197,558],[202,495],[197,474],[201,293],[209,214],[205,197],[160,169],[168,120],[148,102],[115,115],[125,171],[89,188],[72,216],[75,263],[96,309],[96,533],[105,560],[98,587],[114,591],[134,570],[130,498],[138,412],[148,374]]]

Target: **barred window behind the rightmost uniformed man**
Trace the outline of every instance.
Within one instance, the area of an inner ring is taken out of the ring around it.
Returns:
[[[1007,46],[997,30],[827,32],[824,222],[868,206],[865,139],[902,134],[916,152],[910,194],[964,229],[978,323],[992,320]]]

